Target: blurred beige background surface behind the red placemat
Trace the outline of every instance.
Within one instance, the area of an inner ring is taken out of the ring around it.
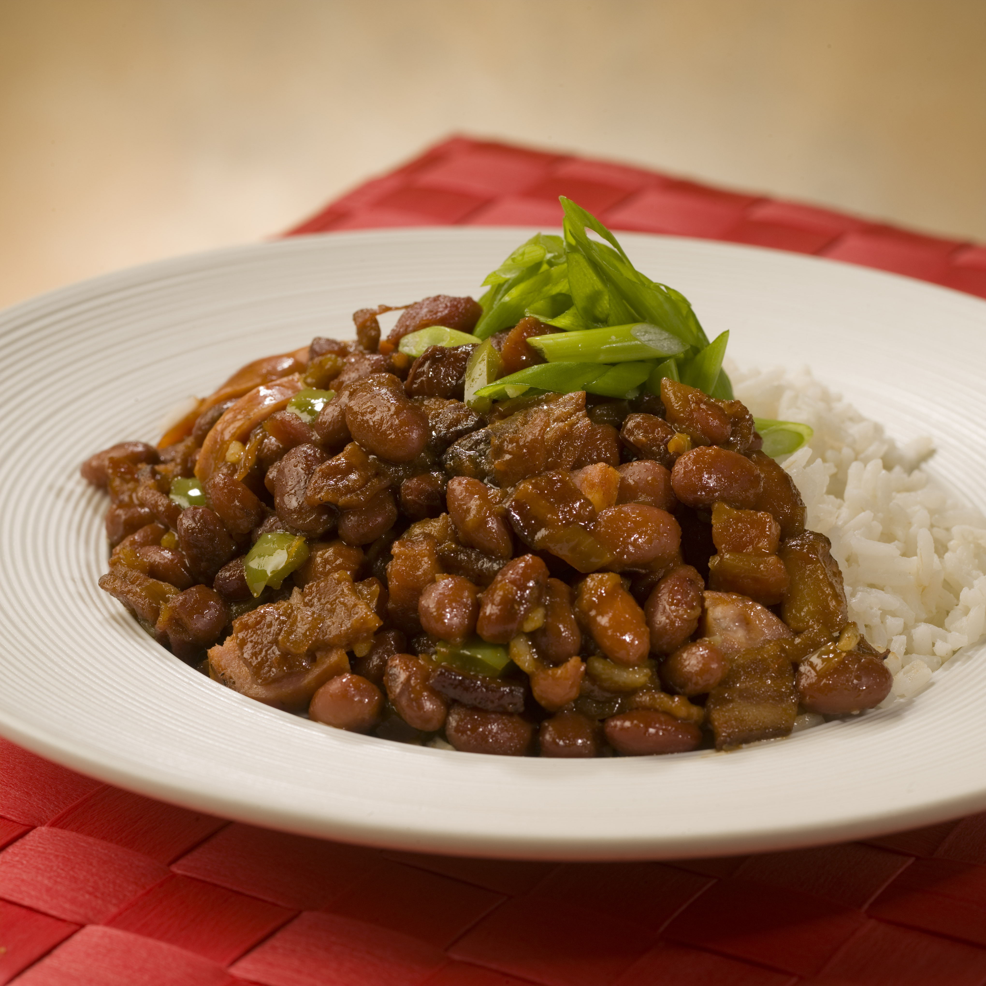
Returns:
[[[986,0],[0,0],[0,305],[454,131],[986,240]]]

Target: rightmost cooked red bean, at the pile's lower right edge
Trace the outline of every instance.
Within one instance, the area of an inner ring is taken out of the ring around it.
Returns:
[[[809,712],[842,716],[880,705],[890,693],[893,675],[880,657],[829,646],[801,663],[795,684]]]

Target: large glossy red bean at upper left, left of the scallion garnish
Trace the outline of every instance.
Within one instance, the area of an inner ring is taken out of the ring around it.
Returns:
[[[392,374],[372,374],[346,391],[346,424],[367,452],[409,462],[428,441],[428,418],[404,394]]]

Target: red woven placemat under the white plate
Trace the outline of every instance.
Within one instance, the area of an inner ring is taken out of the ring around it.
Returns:
[[[818,253],[986,297],[986,248],[606,162],[456,138],[293,233],[559,225]],[[380,852],[174,808],[0,740],[0,984],[980,986],[986,813],[675,863]]]

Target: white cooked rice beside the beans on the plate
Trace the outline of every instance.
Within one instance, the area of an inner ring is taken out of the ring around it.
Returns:
[[[921,467],[930,438],[898,446],[808,370],[731,367],[730,375],[755,417],[814,429],[784,468],[801,490],[808,527],[832,542],[849,618],[890,649],[886,701],[913,697],[955,651],[986,637],[986,519]]]

